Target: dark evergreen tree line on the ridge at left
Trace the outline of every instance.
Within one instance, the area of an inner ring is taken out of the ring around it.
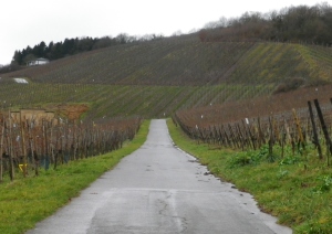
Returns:
[[[133,42],[152,41],[163,39],[163,35],[147,34],[144,36],[131,36],[126,33],[121,33],[115,38],[103,36],[103,38],[75,38],[65,39],[63,42],[50,42],[48,45],[45,42],[40,42],[34,46],[27,46],[21,51],[15,51],[11,65],[24,65],[31,60],[38,57],[45,57],[51,61],[59,60],[69,55],[77,53],[97,50],[102,47],[126,44]]]

